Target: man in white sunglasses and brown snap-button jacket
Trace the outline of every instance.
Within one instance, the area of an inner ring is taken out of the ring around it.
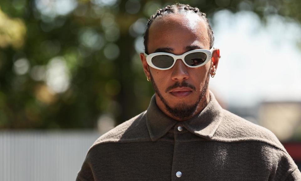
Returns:
[[[96,140],[77,180],[301,180],[274,134],[222,109],[208,90],[219,49],[204,13],[160,9],[144,39],[150,106]]]

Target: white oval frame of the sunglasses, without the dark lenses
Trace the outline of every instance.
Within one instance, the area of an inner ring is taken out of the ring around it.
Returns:
[[[189,53],[194,53],[194,52],[202,52],[202,53],[205,53],[205,54],[207,55],[207,58],[206,58],[206,60],[205,60],[203,63],[201,63],[201,64],[199,64],[199,65],[197,65],[197,66],[190,66],[190,65],[188,65],[188,64],[185,62],[184,58],[185,58],[185,56],[188,55]],[[191,68],[201,67],[201,66],[203,66],[203,65],[205,65],[206,63],[209,62],[209,60],[210,60],[211,57],[212,57],[212,52],[213,52],[213,47],[212,47],[210,50],[206,50],[206,49],[196,49],[196,50],[191,50],[191,51],[188,51],[188,52],[183,53],[182,55],[174,55],[174,54],[172,54],[172,53],[166,53],[166,52],[156,52],[156,53],[151,53],[151,54],[149,54],[149,55],[147,55],[146,53],[144,53],[144,56],[145,56],[145,58],[146,58],[147,64],[148,64],[150,67],[152,67],[152,68],[154,68],[154,69],[158,69],[158,70],[168,70],[168,69],[171,69],[171,68],[176,64],[177,59],[181,59],[182,62],[183,62],[187,67],[191,67]],[[170,66],[170,67],[168,67],[168,68],[159,68],[159,67],[156,67],[156,66],[151,62],[151,59],[152,59],[153,57],[155,57],[156,55],[169,55],[169,56],[171,56],[171,57],[173,58],[172,66]]]

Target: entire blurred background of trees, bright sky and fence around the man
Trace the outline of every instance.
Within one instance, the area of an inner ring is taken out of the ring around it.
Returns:
[[[209,18],[222,107],[270,129],[300,169],[301,2],[177,2]],[[101,134],[147,109],[145,25],[172,3],[0,1],[0,180],[75,180]]]

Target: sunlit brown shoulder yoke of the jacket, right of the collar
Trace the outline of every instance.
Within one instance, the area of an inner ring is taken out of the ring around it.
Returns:
[[[223,110],[223,120],[214,134],[214,139],[223,142],[261,142],[286,152],[270,130],[227,110]]]

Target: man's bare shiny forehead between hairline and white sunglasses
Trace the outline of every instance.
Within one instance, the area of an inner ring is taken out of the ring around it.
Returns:
[[[198,14],[169,14],[155,19],[150,25],[149,53],[158,52],[160,48],[165,48],[161,52],[189,51],[196,46],[199,48],[194,49],[209,48],[207,26]]]

